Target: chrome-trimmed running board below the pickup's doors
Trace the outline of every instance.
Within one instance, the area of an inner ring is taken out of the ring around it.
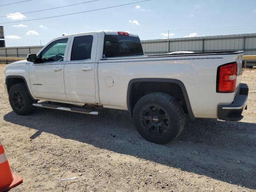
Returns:
[[[93,111],[90,109],[84,109],[84,108],[78,108],[78,107],[62,107],[60,105],[54,105],[54,104],[46,104],[46,103],[33,103],[33,106],[36,107],[42,107],[42,108],[48,108],[48,109],[58,109],[62,111],[70,111],[70,112],[76,112],[76,113],[83,113],[83,114],[89,114],[89,115],[98,115],[98,111]]]

